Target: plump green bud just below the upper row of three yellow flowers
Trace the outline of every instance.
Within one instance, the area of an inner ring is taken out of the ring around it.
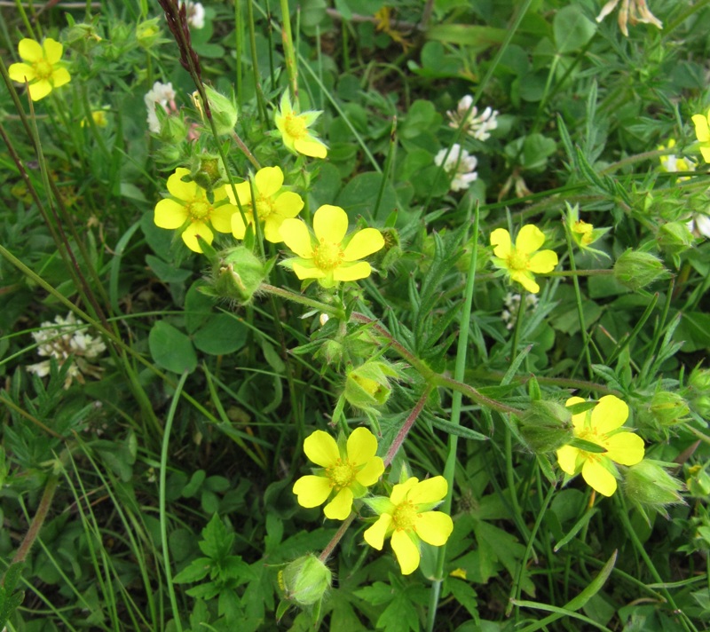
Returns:
[[[209,293],[247,304],[271,266],[264,262],[245,246],[230,249],[213,265],[212,287]]]

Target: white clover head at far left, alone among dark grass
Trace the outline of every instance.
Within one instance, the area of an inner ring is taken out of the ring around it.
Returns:
[[[48,320],[42,323],[39,331],[32,333],[37,346],[37,354],[45,358],[54,358],[61,367],[70,359],[74,361],[67,370],[64,388],[67,389],[73,380],[84,382],[84,375],[99,377],[101,369],[91,365],[87,360],[95,360],[106,351],[106,344],[100,338],[90,336],[84,331],[86,325],[76,320],[73,313],[67,318],[57,316],[54,322]],[[50,374],[51,360],[45,359],[28,367],[30,373],[38,377]]]

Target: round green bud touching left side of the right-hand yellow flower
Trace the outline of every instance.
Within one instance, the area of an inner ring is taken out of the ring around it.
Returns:
[[[518,418],[518,427],[527,445],[537,454],[554,452],[574,438],[572,413],[562,404],[545,399],[530,402]]]

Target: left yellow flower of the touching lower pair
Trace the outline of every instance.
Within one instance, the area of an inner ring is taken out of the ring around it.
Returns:
[[[326,517],[344,520],[350,516],[352,500],[367,493],[384,471],[377,452],[377,439],[367,428],[352,431],[345,446],[338,446],[327,432],[315,431],[304,441],[305,455],[323,470],[299,478],[294,494],[302,507],[318,507],[335,493],[323,509]]]

